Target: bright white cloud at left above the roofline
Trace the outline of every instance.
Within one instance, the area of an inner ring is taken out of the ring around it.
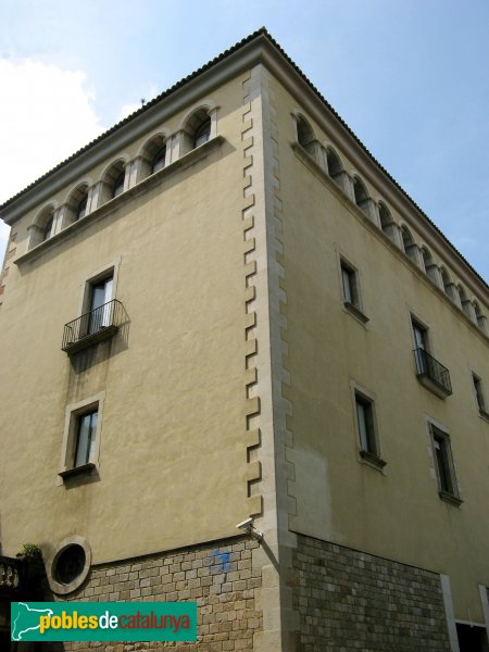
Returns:
[[[80,71],[0,59],[0,203],[103,131]],[[7,241],[0,224],[0,261]]]

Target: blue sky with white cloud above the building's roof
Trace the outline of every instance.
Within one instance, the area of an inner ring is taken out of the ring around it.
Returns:
[[[0,0],[0,201],[264,25],[489,280],[487,0]]]

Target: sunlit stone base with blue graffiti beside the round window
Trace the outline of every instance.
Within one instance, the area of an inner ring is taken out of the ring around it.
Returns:
[[[198,641],[63,643],[62,649],[79,652],[166,648],[178,648],[183,652],[252,650],[253,635],[263,627],[256,605],[261,568],[253,568],[251,562],[252,549],[256,547],[254,540],[229,540],[93,566],[85,585],[67,600],[197,601]]]

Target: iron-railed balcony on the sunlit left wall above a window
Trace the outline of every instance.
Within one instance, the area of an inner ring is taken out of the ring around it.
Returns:
[[[124,319],[121,301],[112,299],[64,326],[62,351],[68,355],[113,337]]]

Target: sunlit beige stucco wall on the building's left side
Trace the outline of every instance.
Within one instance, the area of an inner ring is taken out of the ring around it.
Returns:
[[[46,556],[76,534],[100,563],[230,536],[248,515],[241,84],[213,99],[225,141],[205,159],[11,265],[0,314],[3,554],[34,541]],[[14,226],[18,252],[30,220]],[[86,280],[114,262],[128,324],[83,371],[61,351],[63,325],[79,315]],[[65,408],[98,392],[100,481],[67,488],[57,475]]]

